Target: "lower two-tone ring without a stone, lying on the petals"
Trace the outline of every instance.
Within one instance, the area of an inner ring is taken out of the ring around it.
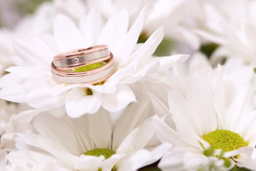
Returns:
[[[95,63],[95,61],[93,61],[93,63]],[[66,71],[57,69],[54,63],[52,62],[52,78],[54,79],[54,81],[60,84],[99,83],[101,81],[107,80],[115,72],[114,58],[111,52],[108,56],[108,61],[103,63],[105,64],[89,71],[70,72],[70,69]]]

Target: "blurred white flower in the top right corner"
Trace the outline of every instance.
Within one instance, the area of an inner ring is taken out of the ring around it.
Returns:
[[[217,4],[204,1],[202,9],[205,27],[197,28],[197,33],[205,41],[220,45],[211,55],[211,63],[234,58],[255,66],[256,1],[223,0]]]

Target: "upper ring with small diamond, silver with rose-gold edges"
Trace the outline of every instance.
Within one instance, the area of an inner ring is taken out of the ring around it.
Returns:
[[[54,66],[59,70],[75,68],[108,60],[110,51],[107,45],[97,45],[86,49],[72,50],[56,55],[53,58]]]

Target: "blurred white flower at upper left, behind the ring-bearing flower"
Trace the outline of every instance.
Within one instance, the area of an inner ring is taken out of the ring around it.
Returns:
[[[4,74],[5,68],[16,65],[17,55],[13,49],[13,39],[49,32],[54,16],[53,9],[51,2],[43,3],[34,15],[25,17],[14,30],[0,29],[0,76]]]

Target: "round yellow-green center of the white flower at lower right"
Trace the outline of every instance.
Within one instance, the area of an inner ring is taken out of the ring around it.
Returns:
[[[203,136],[203,139],[214,149],[232,151],[248,146],[248,143],[237,133],[230,130],[214,130]]]

